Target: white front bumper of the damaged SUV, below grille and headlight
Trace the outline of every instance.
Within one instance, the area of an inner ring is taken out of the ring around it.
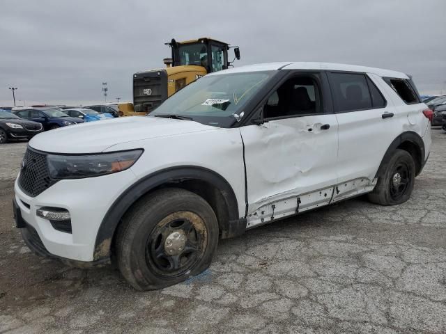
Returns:
[[[24,193],[18,180],[19,177],[15,181],[14,200],[24,222],[22,236],[29,248],[38,255],[58,258],[76,267],[90,267],[97,264],[93,262],[93,253],[102,220],[135,176],[128,169],[100,177],[61,180],[36,197]],[[68,210],[72,232],[56,230],[50,221],[37,216],[36,210],[41,207]]]

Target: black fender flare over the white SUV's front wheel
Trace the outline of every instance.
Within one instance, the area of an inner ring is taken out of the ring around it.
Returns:
[[[166,168],[147,175],[132,184],[109,207],[96,234],[93,261],[104,260],[110,257],[114,232],[121,218],[134,202],[157,186],[183,180],[200,180],[213,184],[213,186],[219,189],[229,213],[229,221],[219,222],[223,234],[226,237],[231,237],[243,233],[246,227],[246,220],[245,218],[240,219],[236,194],[224,177],[213,170],[198,166]]]

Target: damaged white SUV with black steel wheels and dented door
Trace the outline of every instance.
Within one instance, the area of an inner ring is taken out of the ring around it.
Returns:
[[[39,134],[15,182],[36,253],[116,262],[136,289],[206,269],[220,238],[369,193],[408,200],[433,113],[406,74],[268,63],[208,74],[148,117]]]

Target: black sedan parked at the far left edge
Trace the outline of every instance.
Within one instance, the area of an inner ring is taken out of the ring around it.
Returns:
[[[43,132],[40,123],[22,120],[10,111],[0,110],[0,144],[10,140],[30,139],[40,132]]]

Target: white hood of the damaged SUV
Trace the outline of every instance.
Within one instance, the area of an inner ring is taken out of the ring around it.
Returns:
[[[85,122],[38,134],[31,148],[54,153],[98,153],[110,146],[161,136],[218,129],[190,120],[157,117],[120,117],[101,122]],[[135,145],[137,148],[137,145]]]

